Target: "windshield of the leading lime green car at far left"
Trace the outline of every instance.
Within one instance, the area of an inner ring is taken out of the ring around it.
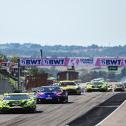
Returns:
[[[25,100],[30,99],[29,95],[7,95],[3,100]]]

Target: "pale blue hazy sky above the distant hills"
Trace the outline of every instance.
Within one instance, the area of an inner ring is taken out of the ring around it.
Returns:
[[[126,0],[0,0],[0,44],[126,43]]]

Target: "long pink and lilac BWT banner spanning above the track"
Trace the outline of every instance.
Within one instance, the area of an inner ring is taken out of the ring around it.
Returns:
[[[20,66],[126,66],[126,57],[20,58]]]

